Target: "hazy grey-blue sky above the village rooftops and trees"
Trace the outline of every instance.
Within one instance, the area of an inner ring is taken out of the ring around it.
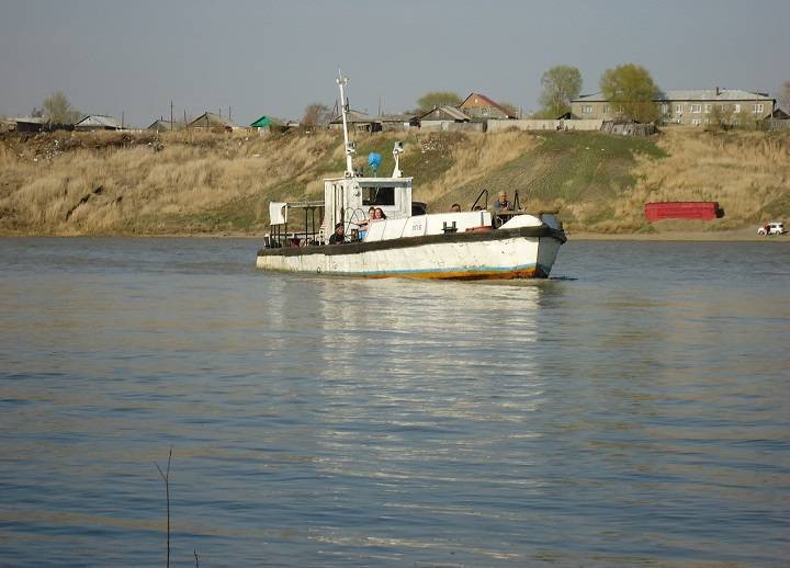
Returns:
[[[340,65],[351,106],[416,105],[426,91],[485,93],[538,107],[554,65],[583,92],[624,63],[663,89],[777,93],[790,80],[790,0],[0,0],[0,114],[53,91],[83,112],[145,126],[233,107],[300,118],[332,105]]]

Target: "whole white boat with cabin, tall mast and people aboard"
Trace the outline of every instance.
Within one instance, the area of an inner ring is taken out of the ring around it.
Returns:
[[[471,211],[428,213],[425,204],[413,201],[413,179],[400,171],[403,143],[393,148],[392,175],[375,175],[374,155],[369,160],[373,175],[354,170],[357,148],[349,140],[345,93],[348,79],[338,73],[337,83],[345,174],[324,180],[323,201],[270,203],[270,231],[258,251],[257,268],[374,279],[549,277],[566,241],[556,212],[489,208],[488,192],[483,190]],[[386,218],[369,219],[370,207],[381,208]],[[289,218],[292,228],[294,220],[300,225],[297,230],[289,231]],[[341,237],[332,238],[335,232]]]

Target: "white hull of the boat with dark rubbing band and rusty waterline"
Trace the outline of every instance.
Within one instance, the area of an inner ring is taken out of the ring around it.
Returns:
[[[526,227],[370,243],[261,249],[257,266],[281,272],[362,277],[548,277],[564,241],[561,230],[545,226]]]

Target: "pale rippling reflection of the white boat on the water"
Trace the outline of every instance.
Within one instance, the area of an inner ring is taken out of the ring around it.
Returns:
[[[539,311],[541,298],[556,294],[555,283],[315,284],[316,321],[324,327],[316,352],[325,365],[317,382],[324,407],[316,468],[335,495],[334,514],[359,515],[342,530],[316,526],[316,538],[450,550],[459,527],[449,519],[475,515],[496,527],[506,519],[501,503],[542,495],[546,481],[535,473],[550,456],[532,451],[543,436],[537,413],[546,404]],[[470,332],[482,329],[487,337]],[[501,476],[503,467],[521,475]],[[526,521],[519,508],[507,514]],[[393,539],[382,523],[418,511],[430,531],[413,526]],[[503,553],[483,547],[477,554]]]

